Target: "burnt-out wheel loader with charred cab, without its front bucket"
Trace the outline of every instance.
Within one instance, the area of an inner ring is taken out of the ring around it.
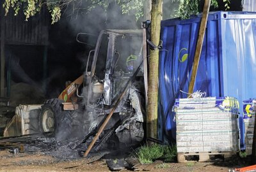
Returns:
[[[49,99],[42,105],[40,131],[57,141],[70,138],[84,141],[85,136],[93,136],[121,90],[140,68],[95,149],[107,140],[127,146],[140,143],[145,114],[143,68],[139,66],[143,60],[142,41],[141,30],[101,31],[95,50],[88,55],[84,74],[70,83],[58,99]]]

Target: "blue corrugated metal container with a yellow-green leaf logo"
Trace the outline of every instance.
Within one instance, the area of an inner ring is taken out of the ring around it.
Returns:
[[[159,66],[159,136],[175,139],[172,106],[188,97],[200,17],[161,22],[163,50]],[[209,14],[195,89],[207,96],[236,97],[240,104],[241,148],[244,148],[243,100],[256,97],[256,13]],[[164,132],[161,132],[164,131]]]

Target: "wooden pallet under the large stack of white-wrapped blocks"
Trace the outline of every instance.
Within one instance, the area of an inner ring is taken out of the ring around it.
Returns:
[[[224,159],[230,158],[236,155],[237,152],[188,152],[188,153],[178,153],[178,162],[188,162],[195,161],[195,157],[199,162],[213,161],[214,157],[217,155],[223,155]]]

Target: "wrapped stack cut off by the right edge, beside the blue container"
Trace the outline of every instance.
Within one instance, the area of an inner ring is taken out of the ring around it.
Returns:
[[[244,141],[246,144],[246,154],[252,155],[253,131],[255,124],[256,99],[243,101],[244,117]]]

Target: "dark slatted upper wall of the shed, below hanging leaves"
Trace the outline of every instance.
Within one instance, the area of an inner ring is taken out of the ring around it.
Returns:
[[[10,10],[5,19],[5,41],[10,45],[47,45],[49,38],[50,17],[46,8],[25,21],[20,11],[14,15]]]

